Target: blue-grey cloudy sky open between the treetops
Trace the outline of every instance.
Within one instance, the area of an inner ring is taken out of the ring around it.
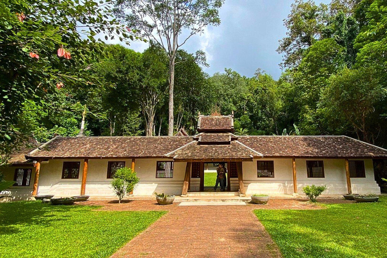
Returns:
[[[231,68],[242,76],[252,77],[257,68],[278,79],[282,55],[276,49],[286,36],[283,20],[290,13],[293,0],[226,0],[219,11],[221,24],[209,26],[201,35],[188,39],[182,46],[189,53],[201,49],[206,52],[212,76]],[[329,4],[330,0],[315,0]],[[130,48],[144,51],[143,42],[132,42]]]

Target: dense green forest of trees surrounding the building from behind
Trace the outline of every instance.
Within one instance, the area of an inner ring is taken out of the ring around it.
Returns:
[[[168,1],[147,0],[146,10],[140,2],[0,1],[1,163],[30,137],[76,136],[83,113],[86,136],[164,136],[181,127],[194,135],[199,113],[216,110],[234,112],[237,135],[346,135],[387,147],[386,0],[296,0],[277,50],[279,80],[259,67],[250,78],[228,68],[206,74],[203,51],[174,43]],[[186,12],[177,30],[221,26],[223,1],[186,10],[187,1],[177,2],[177,17]],[[141,23],[145,12],[166,21]],[[149,47],[136,52],[133,40]]]

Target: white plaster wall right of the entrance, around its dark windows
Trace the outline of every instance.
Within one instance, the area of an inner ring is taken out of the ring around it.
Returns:
[[[291,159],[274,160],[274,178],[258,178],[256,176],[256,160],[243,162],[243,183],[247,195],[254,193],[287,194],[293,193],[293,176]],[[311,159],[318,160],[318,159]],[[380,188],[374,180],[371,159],[364,159],[365,178],[351,178],[353,193],[380,194]],[[306,159],[296,159],[297,190],[302,194],[305,185],[327,185],[324,195],[342,195],[347,193],[347,180],[344,159],[324,159],[325,178],[308,178]]]

